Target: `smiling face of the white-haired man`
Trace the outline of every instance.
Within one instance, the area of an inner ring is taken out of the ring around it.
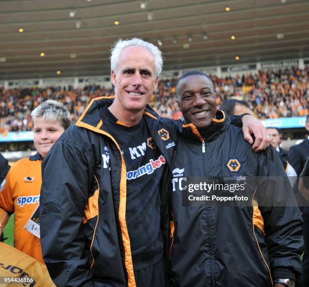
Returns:
[[[130,112],[145,109],[158,86],[154,61],[152,53],[142,47],[131,46],[121,52],[118,71],[112,70],[118,107]]]

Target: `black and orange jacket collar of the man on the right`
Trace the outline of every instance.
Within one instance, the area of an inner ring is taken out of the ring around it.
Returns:
[[[213,141],[225,132],[230,125],[230,118],[221,110],[216,112],[211,125],[204,130],[198,130],[193,123],[182,124],[181,134],[187,140],[192,142]]]

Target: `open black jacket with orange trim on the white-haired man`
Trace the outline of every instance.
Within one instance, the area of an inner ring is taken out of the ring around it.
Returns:
[[[135,286],[126,226],[126,166],[91,101],[42,163],[40,234],[43,258],[57,286]],[[146,108],[144,120],[166,162],[179,121]],[[169,138],[162,140],[165,128]],[[121,136],[121,135],[120,135]]]

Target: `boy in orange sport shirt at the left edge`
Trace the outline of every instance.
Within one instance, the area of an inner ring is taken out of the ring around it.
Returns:
[[[7,174],[0,192],[0,231],[15,213],[15,248],[44,263],[39,229],[32,232],[26,225],[40,201],[42,159],[70,126],[71,116],[63,104],[47,100],[32,111],[31,117],[37,153],[17,161]]]

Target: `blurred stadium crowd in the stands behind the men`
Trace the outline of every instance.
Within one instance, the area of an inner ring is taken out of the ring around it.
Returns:
[[[246,100],[254,115],[260,119],[308,114],[309,66],[303,70],[291,67],[260,70],[258,75],[211,78],[215,84],[218,106],[231,97],[238,97]],[[161,80],[152,97],[152,107],[162,116],[174,119],[182,117],[174,97],[176,80]],[[47,99],[63,102],[75,121],[91,99],[113,94],[113,89],[99,86],[83,89],[0,88],[0,132],[31,130],[30,111]]]

